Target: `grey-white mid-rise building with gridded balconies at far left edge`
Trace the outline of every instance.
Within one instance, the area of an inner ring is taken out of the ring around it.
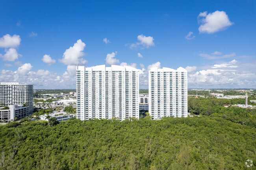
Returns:
[[[28,113],[33,112],[33,85],[19,84],[18,82],[1,82],[0,104],[27,104]]]

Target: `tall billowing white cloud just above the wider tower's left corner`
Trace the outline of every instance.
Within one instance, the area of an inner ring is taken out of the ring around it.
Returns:
[[[85,48],[85,44],[82,42],[82,40],[77,40],[77,42],[74,44],[74,46],[70,47],[69,49],[66,49],[66,51],[63,53],[63,57],[59,62],[62,62],[66,65],[76,65],[76,64],[87,64],[87,60],[83,60],[84,53],[82,52]]]

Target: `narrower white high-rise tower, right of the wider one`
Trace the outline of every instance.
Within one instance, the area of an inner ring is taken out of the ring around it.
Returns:
[[[148,71],[149,114],[153,119],[187,117],[187,70],[180,67]]]

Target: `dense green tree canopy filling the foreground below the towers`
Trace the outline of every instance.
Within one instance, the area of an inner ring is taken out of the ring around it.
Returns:
[[[0,168],[247,170],[247,159],[256,162],[255,128],[223,117],[72,119],[47,125],[30,121],[0,126],[0,152],[5,155]]]

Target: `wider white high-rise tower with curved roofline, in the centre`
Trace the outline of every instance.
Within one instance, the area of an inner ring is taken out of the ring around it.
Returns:
[[[139,118],[139,69],[77,66],[76,92],[77,119]]]

